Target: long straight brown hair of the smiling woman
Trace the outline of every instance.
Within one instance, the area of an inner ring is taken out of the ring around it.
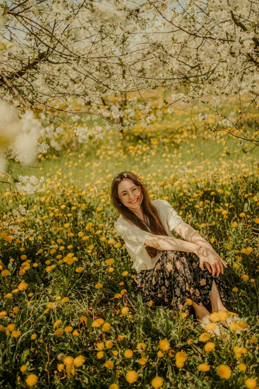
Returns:
[[[141,188],[141,194],[142,194],[141,207],[142,207],[143,215],[146,216],[149,220],[149,228],[144,222],[142,222],[142,220],[138,218],[138,216],[135,213],[130,211],[130,209],[122,203],[120,197],[118,196],[118,185],[125,178],[130,179],[131,181],[133,181],[135,185],[138,185]],[[149,233],[151,232],[154,235],[167,236],[167,232],[165,231],[159,219],[157,209],[156,207],[154,207],[153,204],[151,204],[146,185],[143,182],[141,182],[140,179],[135,174],[129,171],[123,171],[121,173],[118,173],[114,177],[112,182],[111,198],[112,198],[113,205],[115,206],[117,211],[129,223],[139,227],[143,231],[147,231]],[[157,253],[161,252],[157,248],[150,247],[150,246],[146,246],[145,249],[151,258],[155,257]]]

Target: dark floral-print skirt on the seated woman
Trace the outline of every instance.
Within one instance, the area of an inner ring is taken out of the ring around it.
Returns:
[[[136,275],[136,292],[143,301],[152,300],[155,305],[173,305],[180,311],[191,304],[186,299],[194,301],[199,306],[207,308],[212,282],[218,288],[221,301],[229,309],[229,288],[220,273],[212,276],[204,264],[204,270],[199,267],[199,257],[192,252],[163,251],[151,270],[142,270]]]

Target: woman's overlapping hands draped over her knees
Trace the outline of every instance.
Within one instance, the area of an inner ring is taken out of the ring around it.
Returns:
[[[224,274],[224,267],[227,267],[227,263],[220,258],[209,243],[206,242],[204,245],[198,246],[196,254],[200,259],[199,267],[201,270],[204,270],[203,265],[205,263],[208,271],[212,273],[213,277],[215,273],[217,273],[216,277],[218,277],[220,273]]]

